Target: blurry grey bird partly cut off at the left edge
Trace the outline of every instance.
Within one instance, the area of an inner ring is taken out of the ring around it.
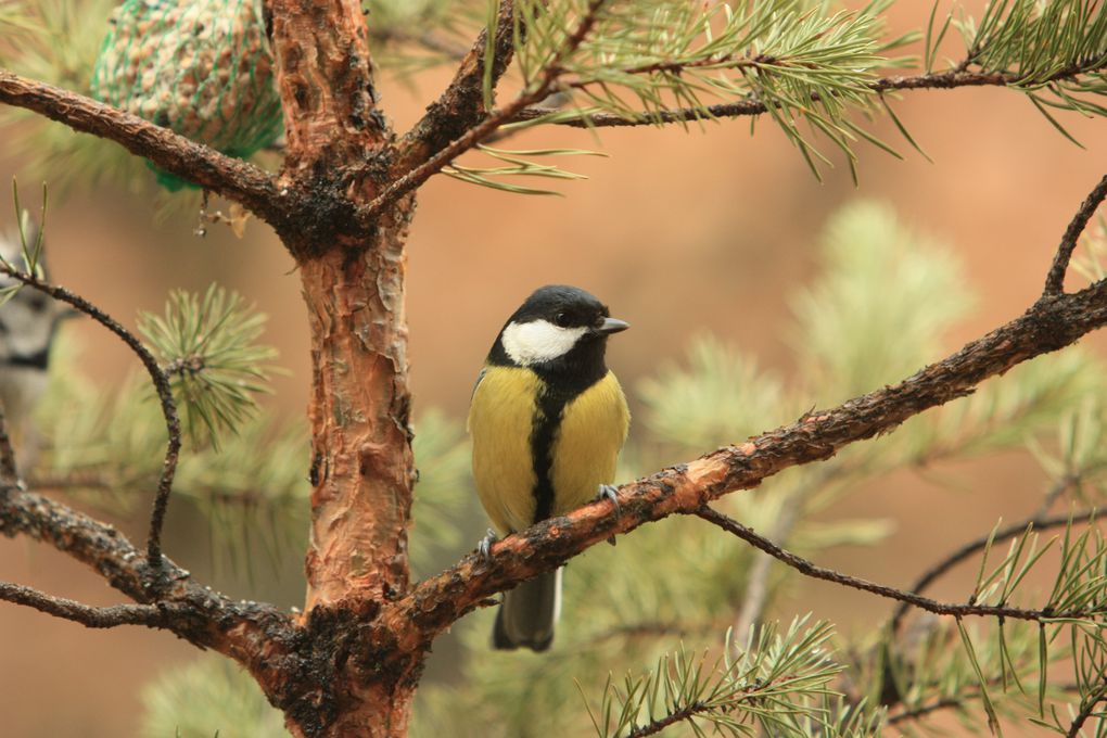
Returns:
[[[23,243],[33,252],[40,243],[40,227],[25,214],[23,235],[12,229],[0,232],[0,257],[12,268],[27,271],[29,266]],[[45,274],[39,254],[35,264]],[[0,294],[19,287],[19,282],[0,274]],[[34,430],[30,415],[46,388],[50,349],[60,321],[73,314],[61,302],[29,287],[22,287],[0,305],[0,408],[10,430],[23,439],[24,460],[33,456]]]

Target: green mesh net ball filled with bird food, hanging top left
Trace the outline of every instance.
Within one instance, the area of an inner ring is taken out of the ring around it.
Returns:
[[[96,60],[93,95],[246,158],[281,133],[260,0],[125,0]],[[158,173],[169,189],[185,183]]]

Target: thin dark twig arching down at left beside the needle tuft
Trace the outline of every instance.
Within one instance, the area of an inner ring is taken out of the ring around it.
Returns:
[[[162,415],[165,417],[165,428],[169,436],[165,449],[165,460],[162,464],[162,476],[157,482],[157,493],[154,497],[154,508],[149,517],[149,536],[146,541],[146,557],[151,565],[158,567],[162,561],[162,527],[165,522],[165,511],[169,505],[169,492],[173,491],[173,478],[176,474],[177,459],[180,455],[180,418],[177,415],[177,405],[173,399],[173,389],[169,386],[168,377],[162,371],[162,367],[158,366],[154,354],[133,333],[84,298],[70,292],[65,288],[49,284],[32,274],[25,274],[3,263],[0,263],[0,272],[50,295],[54,300],[60,300],[92,318],[118,336],[138,357],[146,368],[146,373],[149,374],[154,389],[157,392],[157,398],[162,406]]]

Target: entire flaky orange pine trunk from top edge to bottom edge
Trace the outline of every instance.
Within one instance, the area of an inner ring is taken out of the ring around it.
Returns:
[[[287,148],[280,185],[310,204],[280,229],[311,330],[311,540],[302,642],[263,684],[297,736],[400,737],[426,644],[380,624],[406,592],[414,460],[404,242],[414,197],[358,216],[393,176],[358,0],[270,0]]]

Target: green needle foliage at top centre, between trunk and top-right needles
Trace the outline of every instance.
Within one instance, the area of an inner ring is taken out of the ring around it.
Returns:
[[[813,133],[841,149],[852,168],[859,137],[889,148],[849,116],[871,112],[876,70],[896,63],[882,52],[911,40],[881,40],[882,9],[831,12],[795,0],[520,2],[515,59],[525,90],[556,75],[554,89],[575,108],[524,125],[597,113],[660,124],[658,114],[674,108],[696,108],[710,119],[712,103],[756,100],[817,176],[817,163],[829,159]]]

